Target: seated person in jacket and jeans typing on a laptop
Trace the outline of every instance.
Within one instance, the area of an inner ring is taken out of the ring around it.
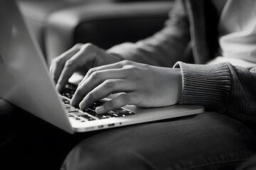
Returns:
[[[70,101],[81,109],[119,92],[96,112],[129,104],[206,107],[199,115],[99,132],[77,145],[62,169],[236,169],[250,159],[255,18],[256,1],[177,0],[150,38],[109,50],[78,44],[56,57],[50,75],[58,91],[74,72],[85,73]],[[255,169],[252,163],[240,169]]]

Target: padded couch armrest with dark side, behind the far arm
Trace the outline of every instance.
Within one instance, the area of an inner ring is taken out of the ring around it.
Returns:
[[[52,13],[46,26],[47,60],[77,42],[92,42],[107,48],[129,40],[130,35],[137,40],[145,38],[164,26],[171,6],[171,1],[113,3]]]

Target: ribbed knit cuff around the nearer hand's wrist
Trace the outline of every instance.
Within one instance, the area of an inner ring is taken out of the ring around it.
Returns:
[[[225,113],[231,91],[227,63],[202,65],[176,62],[174,67],[181,68],[182,74],[180,104],[196,104],[210,111]]]

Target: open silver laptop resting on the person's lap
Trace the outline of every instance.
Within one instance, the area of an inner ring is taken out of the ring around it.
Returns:
[[[69,133],[115,128],[154,120],[203,113],[203,106],[175,105],[161,108],[124,106],[104,115],[94,108],[80,111],[70,106],[75,84],[58,94],[48,74],[42,52],[14,0],[0,1],[0,97]]]

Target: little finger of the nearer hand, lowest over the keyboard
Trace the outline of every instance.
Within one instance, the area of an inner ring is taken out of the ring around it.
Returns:
[[[98,106],[95,111],[97,114],[102,114],[126,105],[137,105],[140,102],[141,98],[135,92],[121,94],[111,101],[107,101],[102,106]]]

